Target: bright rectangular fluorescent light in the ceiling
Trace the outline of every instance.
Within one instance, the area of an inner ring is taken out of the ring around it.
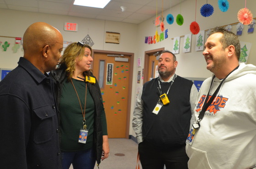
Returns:
[[[74,5],[104,8],[110,0],[75,0]]]

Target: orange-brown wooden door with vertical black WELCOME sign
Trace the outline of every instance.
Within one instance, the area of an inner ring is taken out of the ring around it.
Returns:
[[[128,62],[115,61],[107,53],[94,52],[93,74],[101,87],[101,94],[107,118],[108,138],[126,138],[128,119],[128,84],[130,56]]]

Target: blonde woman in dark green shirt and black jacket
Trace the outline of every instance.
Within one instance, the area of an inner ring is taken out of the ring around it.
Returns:
[[[59,109],[62,168],[94,169],[109,155],[101,90],[91,72],[91,46],[71,43],[50,72]]]

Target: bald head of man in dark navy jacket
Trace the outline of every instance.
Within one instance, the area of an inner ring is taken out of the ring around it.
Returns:
[[[63,37],[53,26],[36,22],[27,28],[23,36],[24,58],[41,72],[55,69],[63,50]]]

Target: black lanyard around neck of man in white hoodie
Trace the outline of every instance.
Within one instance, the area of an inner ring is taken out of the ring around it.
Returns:
[[[229,76],[232,72],[234,72],[238,67],[239,67],[239,66],[237,66],[233,71],[231,71],[231,72],[228,74],[228,76]],[[225,80],[228,76],[226,76],[226,77],[220,82],[218,88],[217,88],[216,91],[213,93],[212,97],[209,99],[209,93],[210,93],[211,87],[212,87],[212,85],[213,85],[213,80],[214,80],[215,75],[213,76],[213,79],[212,79],[212,82],[211,82],[211,86],[210,86],[209,92],[208,92],[208,94],[207,94],[207,96],[206,96],[206,98],[205,98],[205,100],[204,100],[203,108],[202,108],[202,110],[201,110],[201,112],[199,113],[199,116],[198,116],[198,118],[199,118],[199,119],[197,120],[198,123],[203,119],[203,116],[204,116],[205,111],[206,111],[207,108],[210,106],[210,104],[213,102],[213,99],[216,97],[217,93],[219,92],[220,87],[222,86],[222,84],[224,83],[224,80]],[[209,100],[208,100],[208,99],[209,99]],[[200,126],[200,125],[199,125],[199,126]]]

